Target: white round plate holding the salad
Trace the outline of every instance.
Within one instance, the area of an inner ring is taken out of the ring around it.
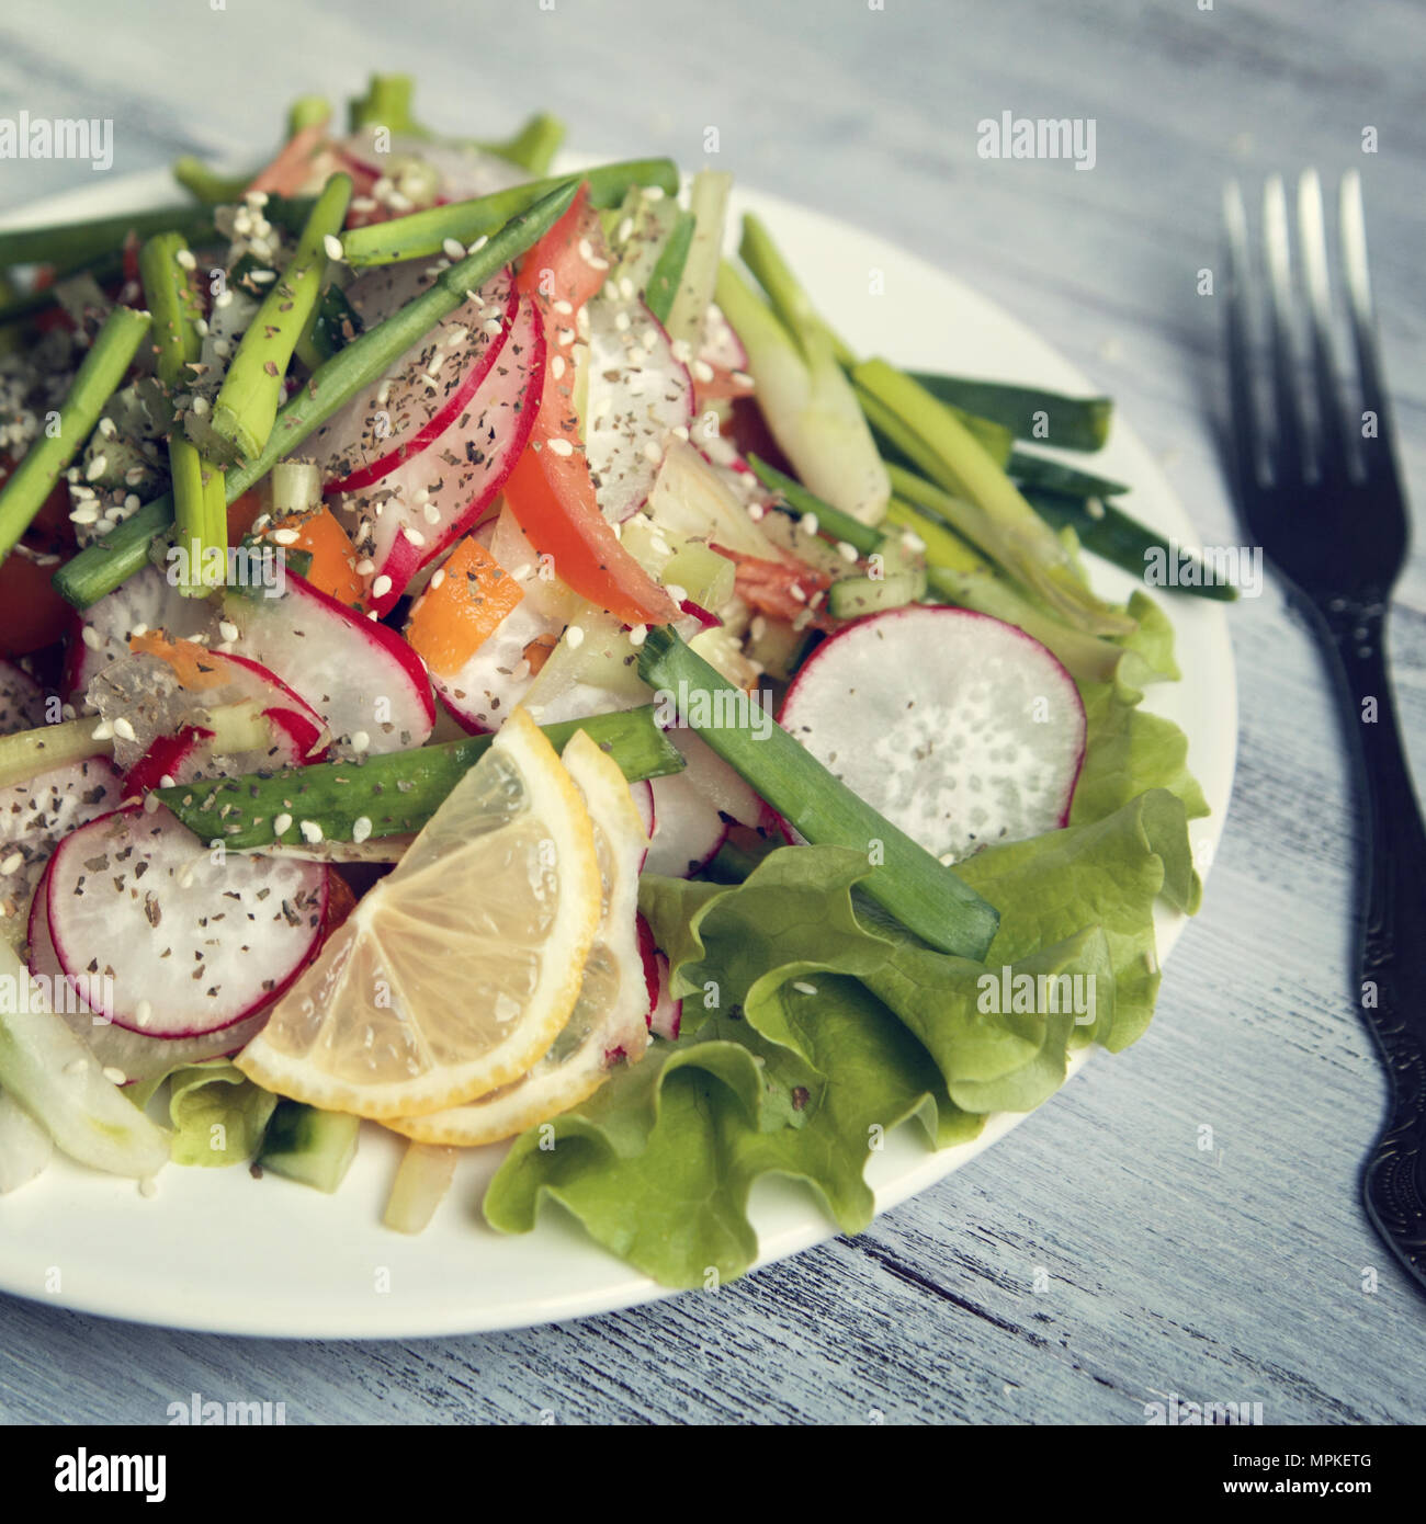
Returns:
[[[172,198],[166,174],[111,181],[27,207],[5,221],[102,216]],[[758,212],[848,341],[901,364],[1034,381],[1066,392],[1095,387],[1039,335],[958,279],[871,233],[753,192],[734,216]],[[885,296],[868,296],[869,271]],[[1197,544],[1188,515],[1122,419],[1092,469],[1133,483],[1133,511],[1182,544]],[[1127,597],[1133,581],[1095,562],[1097,585]],[[1212,814],[1193,826],[1206,867],[1228,811],[1237,739],[1232,651],[1223,607],[1173,597],[1184,680],[1150,690],[1145,707],[1190,738],[1190,764]],[[1159,952],[1184,917],[1161,907]],[[1167,985],[1171,998],[1171,980]],[[1083,1059],[1075,1062],[1075,1068]],[[1020,1122],[1000,1114],[973,1143],[930,1152],[912,1123],[872,1157],[877,1210],[958,1169]],[[451,1196],[419,1237],[380,1224],[401,1146],[368,1125],[336,1196],[244,1169],[168,1169],[154,1199],[131,1181],[56,1163],[34,1186],[0,1198],[0,1289],[84,1312],[223,1334],[400,1338],[522,1327],[604,1312],[666,1292],[592,1244],[573,1219],[546,1209],[538,1228],[503,1237],[480,1218],[500,1149],[462,1161]],[[781,1259],[834,1233],[811,1193],[790,1181],[753,1192],[761,1260]]]

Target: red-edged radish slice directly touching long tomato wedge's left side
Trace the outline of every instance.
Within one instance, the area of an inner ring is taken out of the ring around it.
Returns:
[[[544,334],[520,302],[509,338],[474,393],[424,450],[332,506],[374,564],[371,607],[387,613],[416,572],[476,524],[525,450],[544,378]]]

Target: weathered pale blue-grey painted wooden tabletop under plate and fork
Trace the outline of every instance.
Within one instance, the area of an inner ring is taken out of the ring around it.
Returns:
[[[122,18],[52,0],[34,23],[0,20],[0,114],[111,116],[114,172],[242,151],[291,96],[342,96],[372,64],[416,73],[450,128],[544,105],[581,148],[695,166],[717,126],[738,178],[877,227],[1045,332],[1115,395],[1209,543],[1240,538],[1211,427],[1220,314],[1196,294],[1222,183],[1357,166],[1403,463],[1426,491],[1418,0],[136,0]],[[978,120],[1005,110],[1094,117],[1094,172],[978,158]],[[0,163],[0,203],[90,174]],[[1357,1202],[1383,1085],[1351,1006],[1336,716],[1277,587],[1232,625],[1237,788],[1148,1035],[859,1239],[717,1294],[407,1346],[5,1300],[0,1419],[162,1422],[192,1391],[281,1401],[288,1422],[1138,1423],[1170,1391],[1257,1401],[1275,1423],[1426,1419],[1426,1301]],[[1392,651],[1426,765],[1420,555]]]

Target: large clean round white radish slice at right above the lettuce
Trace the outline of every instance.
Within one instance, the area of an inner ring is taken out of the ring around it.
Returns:
[[[1037,640],[962,608],[897,608],[825,640],[781,722],[936,856],[1063,826],[1084,759],[1074,678]]]

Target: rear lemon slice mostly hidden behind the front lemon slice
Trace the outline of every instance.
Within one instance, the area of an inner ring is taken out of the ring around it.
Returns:
[[[564,767],[595,823],[604,890],[580,998],[549,1050],[514,1084],[464,1106],[386,1123],[409,1138],[471,1146],[514,1137],[592,1096],[618,1064],[638,1061],[648,1045],[648,986],[634,919],[648,847],[644,821],[618,764],[583,730],[564,748]]]

